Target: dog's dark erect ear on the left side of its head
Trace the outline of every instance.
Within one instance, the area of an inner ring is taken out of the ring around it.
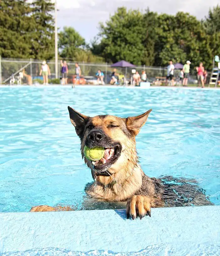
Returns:
[[[86,120],[88,120],[89,117],[86,115],[80,114],[79,112],[70,108],[69,106],[68,106],[68,110],[69,110],[70,121],[76,129],[76,134],[80,136],[81,132],[84,131]]]

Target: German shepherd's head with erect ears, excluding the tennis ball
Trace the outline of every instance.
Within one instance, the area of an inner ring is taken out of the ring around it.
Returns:
[[[85,146],[105,148],[104,157],[96,162],[85,158],[85,163],[97,176],[119,174],[137,164],[135,136],[145,124],[151,110],[144,114],[119,118],[112,115],[85,116],[68,107],[69,116],[81,140],[81,153]],[[94,175],[93,173],[93,175]]]

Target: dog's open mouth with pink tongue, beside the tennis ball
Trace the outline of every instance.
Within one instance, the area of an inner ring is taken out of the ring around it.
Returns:
[[[94,169],[97,170],[98,175],[106,175],[102,174],[102,170],[105,171],[112,164],[114,164],[121,154],[121,146],[116,145],[115,147],[105,147],[105,153],[102,159],[97,161],[92,161]]]

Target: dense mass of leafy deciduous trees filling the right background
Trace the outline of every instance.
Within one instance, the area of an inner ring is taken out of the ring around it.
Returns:
[[[210,69],[220,50],[219,14],[217,6],[200,21],[184,12],[169,15],[118,8],[100,24],[100,43],[91,50],[112,62],[124,59],[135,65],[164,66],[170,59],[182,63],[189,59],[192,66],[203,61]]]

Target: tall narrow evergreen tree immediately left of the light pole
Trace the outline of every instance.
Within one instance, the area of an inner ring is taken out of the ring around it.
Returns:
[[[54,58],[54,3],[50,0],[34,0],[32,17],[35,29],[31,38],[31,53],[36,59]]]

